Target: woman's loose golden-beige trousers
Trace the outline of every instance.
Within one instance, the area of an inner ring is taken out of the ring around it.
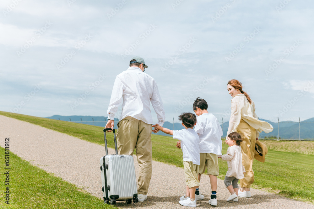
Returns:
[[[240,179],[240,185],[241,187],[250,188],[251,184],[254,182],[252,165],[255,153],[256,130],[241,119],[237,132],[243,139],[240,147],[242,153],[242,165],[245,169],[244,179]]]

